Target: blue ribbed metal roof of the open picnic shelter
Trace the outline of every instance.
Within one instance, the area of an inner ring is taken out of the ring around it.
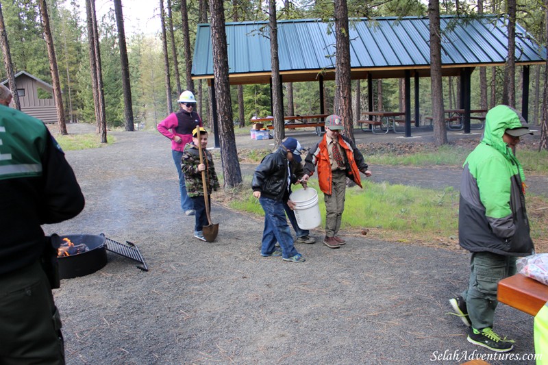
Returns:
[[[430,74],[427,17],[354,18],[349,20],[351,77],[403,77],[405,71]],[[508,31],[501,16],[441,16],[443,75],[463,67],[506,62]],[[268,84],[271,77],[269,23],[225,24],[230,84]],[[284,82],[335,77],[334,23],[318,19],[278,21],[279,70]],[[546,49],[516,24],[516,64],[545,62]],[[192,79],[213,78],[209,24],[197,29]]]

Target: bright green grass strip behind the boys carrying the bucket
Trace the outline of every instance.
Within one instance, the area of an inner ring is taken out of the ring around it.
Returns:
[[[345,212],[341,229],[348,233],[368,234],[373,238],[412,242],[459,249],[458,201],[459,192],[452,187],[445,190],[417,188],[414,186],[363,182],[347,188]],[[216,194],[214,201],[227,207],[262,217],[264,212],[251,192],[251,177],[245,177],[237,188]],[[309,186],[319,194],[322,225],[325,227],[325,204],[317,181]],[[295,186],[293,190],[299,189]],[[527,212],[531,236],[537,252],[548,252],[548,199],[527,195]]]

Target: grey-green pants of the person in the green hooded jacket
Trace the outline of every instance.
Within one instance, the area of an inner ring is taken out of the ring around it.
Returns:
[[[470,259],[469,288],[462,292],[475,329],[493,328],[498,284],[516,273],[516,257],[490,252],[474,252]]]

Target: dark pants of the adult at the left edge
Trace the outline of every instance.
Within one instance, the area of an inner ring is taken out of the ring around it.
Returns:
[[[0,275],[0,364],[64,364],[61,318],[38,262]]]

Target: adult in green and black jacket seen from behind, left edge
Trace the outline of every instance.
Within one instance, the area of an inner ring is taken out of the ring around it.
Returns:
[[[82,209],[73,170],[44,123],[0,105],[0,364],[64,364],[40,225]]]

